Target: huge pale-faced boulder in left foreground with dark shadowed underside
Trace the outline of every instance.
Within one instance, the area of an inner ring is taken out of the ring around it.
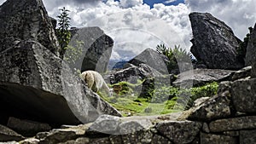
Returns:
[[[0,53],[0,113],[49,124],[120,116],[42,44],[21,41]]]

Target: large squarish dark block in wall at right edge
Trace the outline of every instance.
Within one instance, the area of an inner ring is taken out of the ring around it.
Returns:
[[[236,111],[256,112],[256,78],[235,81],[231,93]]]

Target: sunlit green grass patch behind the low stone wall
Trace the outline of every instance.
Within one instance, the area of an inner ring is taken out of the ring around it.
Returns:
[[[191,89],[177,89],[175,87],[163,87],[157,89],[152,100],[146,98],[138,98],[136,93],[136,86],[138,84],[129,84],[127,82],[119,83],[122,85],[125,92],[121,92],[119,95],[114,94],[111,97],[104,96],[101,93],[102,99],[108,101],[110,105],[115,107],[123,116],[145,116],[145,115],[159,115],[171,112],[181,112],[185,108],[188,109],[192,106],[193,101],[203,96],[216,95],[218,89],[218,83],[206,84],[201,87],[195,87]],[[178,110],[174,110],[174,106],[177,108],[177,99],[179,95],[190,95],[188,105],[180,106]],[[171,100],[157,101],[159,97],[163,95],[171,95]]]

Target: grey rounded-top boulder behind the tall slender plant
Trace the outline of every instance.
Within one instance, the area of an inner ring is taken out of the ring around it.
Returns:
[[[81,72],[87,70],[106,72],[113,49],[113,39],[99,27],[73,28],[71,33],[72,40],[69,45],[76,48],[77,43],[83,43],[81,45],[82,54],[71,67],[77,68]]]

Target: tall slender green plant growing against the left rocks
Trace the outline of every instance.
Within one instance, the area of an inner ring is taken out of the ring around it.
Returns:
[[[57,16],[58,18],[58,28],[56,29],[56,35],[58,37],[58,41],[60,43],[61,49],[59,50],[60,52],[60,57],[61,59],[64,58],[67,45],[70,41],[71,38],[71,33],[69,32],[69,27],[70,27],[70,17],[68,16],[69,10],[65,9],[63,7],[60,9],[61,13]]]

